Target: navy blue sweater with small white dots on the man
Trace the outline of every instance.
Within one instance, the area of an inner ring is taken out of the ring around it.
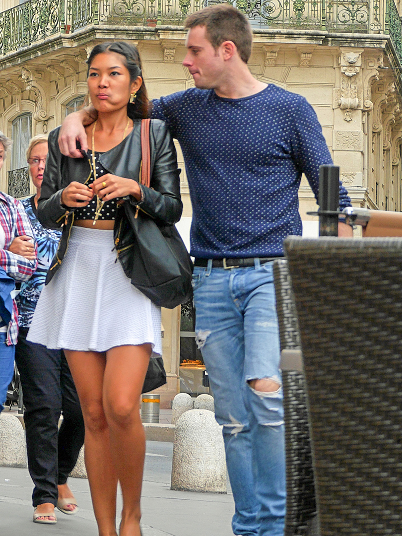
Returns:
[[[301,95],[270,84],[243,99],[213,90],[153,101],[184,155],[193,210],[191,255],[282,255],[302,232],[300,179],[318,195],[318,167],[332,163],[315,111]],[[340,208],[351,205],[340,184]]]

